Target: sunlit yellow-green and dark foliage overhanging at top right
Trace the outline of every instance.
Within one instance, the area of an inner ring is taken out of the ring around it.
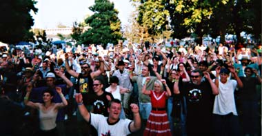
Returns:
[[[137,22],[157,34],[168,24],[172,37],[192,34],[201,43],[204,35],[221,36],[245,31],[261,36],[261,0],[132,0],[139,5]],[[260,37],[261,38],[261,37]]]

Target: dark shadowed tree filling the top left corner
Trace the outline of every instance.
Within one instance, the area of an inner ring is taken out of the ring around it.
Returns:
[[[30,11],[36,13],[34,0],[13,0],[0,2],[0,40],[4,43],[18,43],[24,39],[32,38],[30,28],[34,19]]]

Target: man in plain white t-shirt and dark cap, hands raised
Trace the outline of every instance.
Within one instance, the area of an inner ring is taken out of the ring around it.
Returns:
[[[234,79],[228,79],[231,75]],[[220,77],[220,79],[219,79]],[[239,79],[233,66],[228,68],[216,68],[214,84],[219,88],[219,95],[214,99],[214,134],[215,135],[240,135],[239,117],[236,112],[234,90],[242,88],[243,83]]]

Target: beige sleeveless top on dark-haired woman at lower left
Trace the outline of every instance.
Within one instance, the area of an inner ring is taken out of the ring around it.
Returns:
[[[39,120],[41,130],[52,130],[57,126],[55,123],[57,119],[58,110],[54,110],[54,107],[50,108],[48,111],[43,112],[44,106],[39,109]]]

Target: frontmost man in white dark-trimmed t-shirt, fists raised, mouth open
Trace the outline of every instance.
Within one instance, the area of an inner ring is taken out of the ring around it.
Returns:
[[[134,121],[130,119],[119,119],[121,113],[121,101],[112,99],[108,106],[108,117],[89,113],[83,105],[82,95],[75,96],[79,110],[83,118],[97,129],[98,135],[128,135],[141,128],[141,118],[137,104],[130,104]]]

